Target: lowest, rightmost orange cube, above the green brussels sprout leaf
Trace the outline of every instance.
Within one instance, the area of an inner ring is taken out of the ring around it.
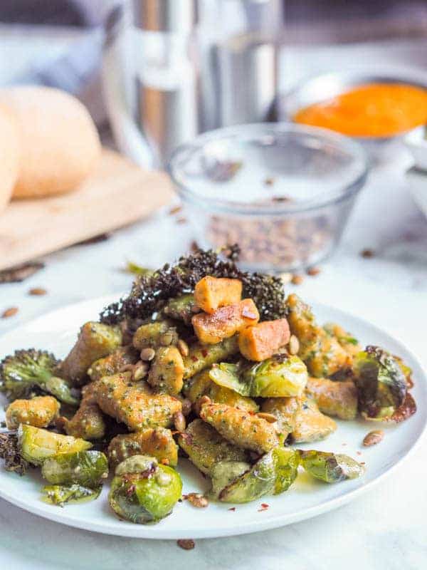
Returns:
[[[246,328],[238,337],[238,348],[248,360],[260,362],[273,356],[289,339],[288,321],[278,318]]]

